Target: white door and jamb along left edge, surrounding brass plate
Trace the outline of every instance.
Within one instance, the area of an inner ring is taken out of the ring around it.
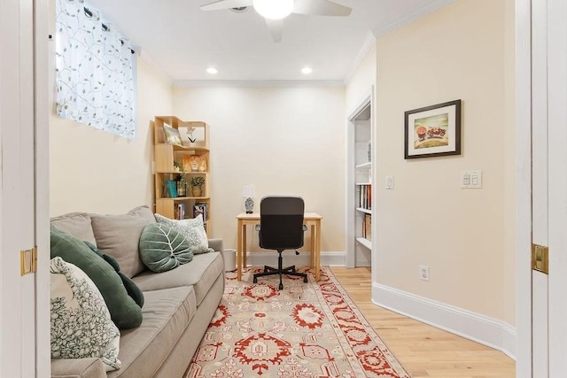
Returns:
[[[50,374],[46,15],[46,2],[0,0],[2,378]],[[22,275],[35,246],[43,270]]]

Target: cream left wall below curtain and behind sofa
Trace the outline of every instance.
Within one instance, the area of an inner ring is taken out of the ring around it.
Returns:
[[[120,213],[152,203],[151,120],[170,114],[171,86],[137,59],[137,136],[128,141],[50,116],[50,214]]]

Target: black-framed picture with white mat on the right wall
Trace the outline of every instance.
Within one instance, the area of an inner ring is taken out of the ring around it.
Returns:
[[[461,100],[404,114],[405,158],[461,155]]]

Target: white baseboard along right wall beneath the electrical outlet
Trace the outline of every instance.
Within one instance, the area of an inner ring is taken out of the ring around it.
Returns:
[[[433,327],[482,343],[502,351],[511,359],[516,359],[516,328],[505,321],[376,282],[372,285],[372,302]]]

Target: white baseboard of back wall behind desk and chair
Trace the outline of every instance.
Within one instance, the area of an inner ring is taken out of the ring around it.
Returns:
[[[309,266],[310,252],[283,251],[284,266]],[[321,266],[345,266],[345,252],[321,252]],[[248,266],[277,266],[277,252],[248,252]]]

